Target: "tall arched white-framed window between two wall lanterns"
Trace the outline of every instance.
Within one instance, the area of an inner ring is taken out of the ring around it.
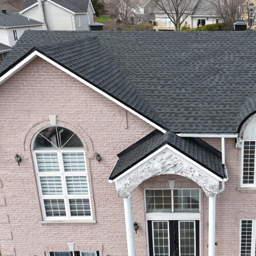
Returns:
[[[41,130],[33,158],[44,219],[92,219],[86,158],[81,140],[59,126]]]

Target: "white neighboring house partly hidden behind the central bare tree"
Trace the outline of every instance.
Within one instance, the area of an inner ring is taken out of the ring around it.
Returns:
[[[220,23],[220,17],[215,13],[214,8],[211,6],[208,0],[194,0],[191,1],[191,5],[195,6],[194,8],[190,7],[191,13],[185,19],[182,26],[187,26],[190,28],[198,28],[204,25]],[[168,18],[168,15],[165,14],[162,10],[155,8],[153,13],[155,14],[154,28],[156,30],[175,30],[174,24]]]

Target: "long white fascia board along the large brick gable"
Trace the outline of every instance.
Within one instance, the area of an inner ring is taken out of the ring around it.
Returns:
[[[162,127],[160,127],[159,125],[155,124],[154,122],[152,122],[151,120],[148,120],[147,118],[145,118],[144,116],[142,116],[141,114],[137,113],[136,111],[132,110],[131,108],[129,108],[129,106],[126,106],[125,104],[123,104],[122,102],[120,102],[119,100],[113,98],[112,96],[110,96],[109,94],[101,91],[100,89],[98,89],[97,87],[93,86],[93,84],[91,84],[90,82],[82,79],[81,77],[75,75],[74,73],[72,73],[71,71],[69,71],[66,68],[63,68],[61,65],[59,65],[58,63],[56,63],[55,61],[49,59],[47,56],[45,56],[44,54],[41,54],[37,51],[32,52],[30,55],[28,55],[25,59],[23,59],[22,61],[20,61],[15,67],[13,67],[11,70],[9,70],[8,72],[6,72],[2,77],[0,77],[0,84],[2,84],[3,82],[5,82],[7,79],[9,79],[11,76],[13,76],[15,73],[17,73],[20,69],[24,68],[26,65],[28,65],[29,62],[31,62],[33,59],[35,59],[36,57],[40,57],[44,60],[46,60],[47,62],[51,63],[53,66],[55,66],[56,68],[62,70],[63,72],[65,72],[66,74],[74,77],[75,79],[77,79],[78,81],[82,82],[83,84],[85,84],[86,86],[90,87],[91,89],[93,89],[94,91],[100,93],[101,95],[105,96],[106,98],[110,99],[111,101],[115,102],[116,104],[118,104],[119,106],[121,106],[122,108],[124,108],[125,110],[131,112],[132,114],[134,114],[135,116],[139,117],[140,119],[142,119],[143,121],[147,122],[148,124],[152,125],[153,127],[155,127],[157,130],[159,130],[162,133],[166,133],[166,130],[164,130]]]

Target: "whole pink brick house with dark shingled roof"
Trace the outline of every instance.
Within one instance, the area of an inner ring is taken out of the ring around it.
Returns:
[[[0,65],[2,255],[254,255],[254,40],[26,31]]]

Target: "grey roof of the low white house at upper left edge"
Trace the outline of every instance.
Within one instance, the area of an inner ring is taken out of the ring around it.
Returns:
[[[42,25],[43,23],[37,22],[34,19],[28,19],[19,14],[13,12],[2,12],[0,11],[0,27],[21,27],[29,25]]]

